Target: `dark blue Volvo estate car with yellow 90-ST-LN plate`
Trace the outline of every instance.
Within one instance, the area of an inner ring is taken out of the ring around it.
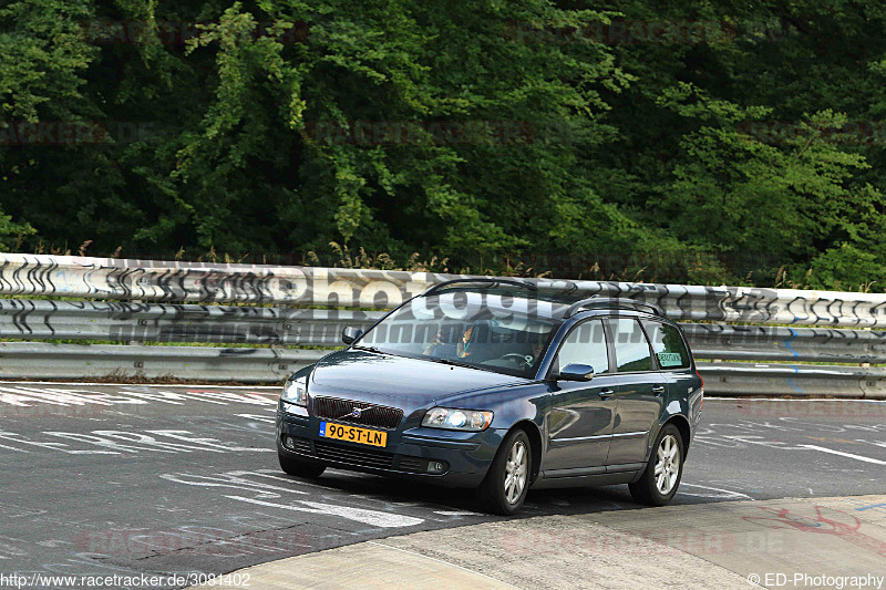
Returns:
[[[327,467],[474,488],[516,513],[529,488],[677,493],[703,383],[680,327],[630,299],[455,280],[398,307],[293,374],[277,411],[281,468]]]

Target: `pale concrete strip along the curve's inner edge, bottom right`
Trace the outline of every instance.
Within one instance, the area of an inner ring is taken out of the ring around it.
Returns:
[[[886,588],[886,495],[504,520],[361,542],[243,573],[269,589],[805,589],[834,588],[839,578],[852,587],[853,577]]]

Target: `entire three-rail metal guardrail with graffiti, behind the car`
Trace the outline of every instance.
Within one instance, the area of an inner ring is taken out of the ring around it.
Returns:
[[[281,381],[326,353],[282,346],[340,345],[343,327],[367,328],[383,313],[360,308],[387,309],[450,278],[454,276],[0,255],[0,294],[56,298],[0,300],[0,339],[272,346],[0,343],[0,377],[115,374]],[[835,329],[882,327],[886,323],[886,297],[882,294],[529,280],[543,291],[655,303],[666,315],[683,322],[721,322],[683,323],[696,356],[717,361],[699,363],[711,394],[884,398],[886,392],[884,370],[858,366],[886,363],[886,332]],[[765,325],[771,323],[792,327]]]

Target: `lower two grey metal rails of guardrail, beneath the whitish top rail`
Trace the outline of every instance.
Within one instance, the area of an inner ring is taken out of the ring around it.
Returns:
[[[0,300],[0,339],[164,343],[341,344],[383,312],[291,308]],[[886,363],[886,331],[684,323],[697,359]],[[281,381],[326,351],[202,346],[0,344],[0,377],[107,374],[206,381]],[[883,370],[804,364],[699,363],[711,394],[883,397]]]

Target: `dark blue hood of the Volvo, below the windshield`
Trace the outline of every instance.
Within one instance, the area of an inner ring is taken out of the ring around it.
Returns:
[[[465,392],[525,384],[527,380],[432,361],[362,350],[324,356],[311,372],[308,393],[393,405],[429,407]]]

